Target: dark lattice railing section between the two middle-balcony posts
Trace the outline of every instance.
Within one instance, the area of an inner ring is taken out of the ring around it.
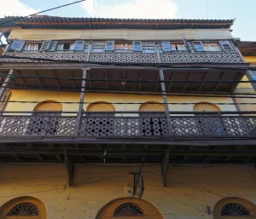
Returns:
[[[168,135],[166,118],[82,118],[79,135]]]

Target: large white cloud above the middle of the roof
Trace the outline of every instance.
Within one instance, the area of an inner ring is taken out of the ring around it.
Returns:
[[[108,0],[86,0],[82,5],[91,17],[104,18],[165,19],[175,18],[177,12],[172,0],[119,0],[115,4]]]

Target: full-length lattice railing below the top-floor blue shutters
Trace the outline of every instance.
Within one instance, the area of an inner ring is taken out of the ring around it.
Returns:
[[[244,61],[236,52],[172,52],[157,55],[157,53],[74,53],[74,52],[55,52],[55,53],[7,53],[6,55],[20,57],[1,58],[0,62],[34,62],[24,59],[45,59],[48,61],[92,61],[110,63],[243,63]],[[44,62],[39,61],[39,62]]]

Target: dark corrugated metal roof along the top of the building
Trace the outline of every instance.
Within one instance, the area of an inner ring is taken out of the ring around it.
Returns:
[[[233,23],[234,20],[71,18],[47,15],[36,15],[26,18],[8,16],[0,19],[0,27],[20,26],[24,29],[214,29],[230,28]]]

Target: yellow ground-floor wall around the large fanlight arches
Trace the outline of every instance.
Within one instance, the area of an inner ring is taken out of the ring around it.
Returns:
[[[139,164],[129,164],[130,167],[124,167],[124,164],[109,165],[116,167],[77,164],[74,187],[67,187],[64,164],[1,164],[0,206],[16,197],[32,196],[44,203],[48,219],[96,219],[99,210],[108,202],[129,196],[128,191],[131,191],[133,183],[133,176],[129,172],[139,170]],[[165,219],[213,219],[216,214],[212,213],[214,205],[224,197],[240,196],[256,203],[253,165],[171,165],[167,187],[164,188],[167,193],[160,188],[160,165],[145,166],[143,170],[148,171],[147,174],[143,173],[143,199],[160,210]],[[243,204],[246,205],[245,202]],[[207,214],[207,205],[211,210],[210,215]]]

